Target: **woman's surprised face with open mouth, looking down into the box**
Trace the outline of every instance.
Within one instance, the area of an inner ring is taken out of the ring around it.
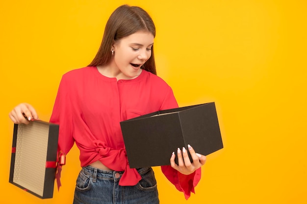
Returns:
[[[151,57],[153,34],[150,32],[136,32],[115,42],[114,65],[120,75],[128,79],[140,75],[141,66]]]

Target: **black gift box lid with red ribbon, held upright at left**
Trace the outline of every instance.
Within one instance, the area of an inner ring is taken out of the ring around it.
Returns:
[[[40,120],[14,125],[10,183],[39,198],[52,198],[58,131],[58,125]]]

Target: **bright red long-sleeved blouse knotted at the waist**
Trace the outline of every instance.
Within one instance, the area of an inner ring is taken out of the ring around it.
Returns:
[[[100,160],[110,169],[125,171],[120,185],[135,185],[141,176],[129,167],[120,122],[177,107],[171,87],[148,71],[142,70],[135,79],[117,81],[103,76],[96,67],[86,67],[63,75],[50,122],[60,125],[58,151],[66,155],[76,142],[81,166]],[[189,198],[201,169],[185,176],[171,166],[161,168]]]

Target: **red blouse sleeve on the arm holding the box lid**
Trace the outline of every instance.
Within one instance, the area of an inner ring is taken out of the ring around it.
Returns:
[[[74,145],[72,103],[70,99],[69,83],[63,75],[55,98],[50,122],[59,124],[58,155],[66,155]]]

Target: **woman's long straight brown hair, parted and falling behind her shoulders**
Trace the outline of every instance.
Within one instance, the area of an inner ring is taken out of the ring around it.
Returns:
[[[105,25],[102,44],[95,58],[88,66],[104,66],[108,64],[112,57],[110,50],[113,43],[138,31],[148,31],[155,37],[153,20],[144,9],[128,5],[122,5],[115,9]],[[153,46],[151,57],[141,68],[156,74]]]

